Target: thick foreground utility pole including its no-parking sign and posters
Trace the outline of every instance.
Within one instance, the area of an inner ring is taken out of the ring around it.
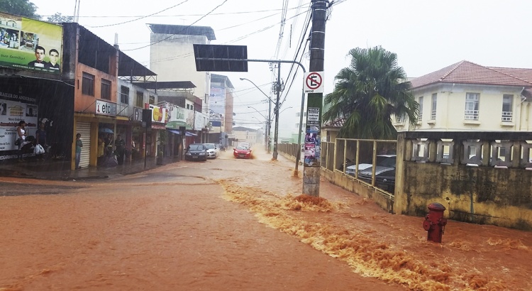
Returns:
[[[306,131],[304,140],[303,194],[319,197],[321,172],[321,114],[323,110],[323,62],[327,0],[311,0],[312,29],[309,74],[304,83]]]

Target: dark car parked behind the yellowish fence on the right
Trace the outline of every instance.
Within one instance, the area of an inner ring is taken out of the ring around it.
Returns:
[[[395,163],[397,161],[396,155],[389,155],[389,157],[382,158],[379,165],[375,167],[375,186],[387,192],[394,192],[395,190]],[[358,178],[362,181],[371,183],[373,167],[360,170]]]

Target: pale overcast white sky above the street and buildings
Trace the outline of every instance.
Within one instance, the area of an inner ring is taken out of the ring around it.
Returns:
[[[113,44],[118,33],[121,50],[149,65],[150,31],[146,23],[211,26],[214,45],[248,45],[248,57],[261,60],[294,60],[308,21],[310,0],[80,0],[79,24]],[[38,13],[71,16],[75,0],[33,0]],[[286,7],[284,28],[281,29]],[[325,93],[333,90],[334,76],[349,65],[352,48],[381,45],[397,53],[408,77],[419,77],[469,60],[479,65],[532,68],[530,0],[338,0],[326,24]],[[46,18],[44,18],[46,19]],[[282,32],[282,37],[279,33]],[[279,43],[280,40],[280,43]],[[308,45],[306,46],[308,52]],[[299,60],[299,59],[298,59]],[[301,60],[309,70],[308,55]],[[293,127],[301,107],[301,70],[292,87],[291,65],[282,64],[287,84],[282,99],[279,131]],[[249,72],[218,72],[230,77],[235,87],[235,119],[250,127],[267,115],[264,95],[245,77],[270,94],[274,79],[267,63],[249,64]],[[176,80],[183,81],[183,80]],[[287,94],[287,92],[289,93]],[[272,96],[273,98],[273,96]],[[292,106],[292,108],[289,108]],[[255,117],[253,117],[255,116]],[[245,123],[251,122],[251,123]],[[279,133],[282,136],[281,133]]]

